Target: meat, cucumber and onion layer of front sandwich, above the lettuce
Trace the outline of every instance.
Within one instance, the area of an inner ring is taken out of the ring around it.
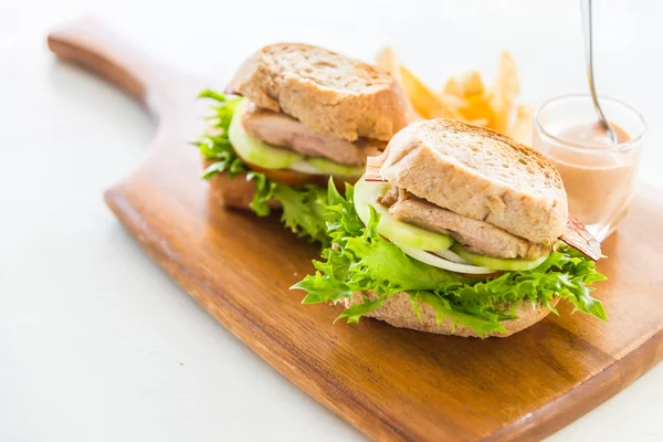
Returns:
[[[533,244],[485,221],[414,197],[389,182],[360,179],[354,192],[355,209],[365,224],[370,210],[376,210],[381,215],[378,233],[406,254],[440,269],[486,275],[532,270],[550,255],[551,244]],[[404,232],[409,234],[406,236]]]

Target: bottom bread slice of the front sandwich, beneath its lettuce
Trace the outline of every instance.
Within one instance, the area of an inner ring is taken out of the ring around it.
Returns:
[[[365,292],[368,295],[369,299],[375,299],[377,296],[372,292]],[[358,292],[352,295],[351,298],[344,299],[346,308],[354,304],[361,304],[364,302],[364,294]],[[550,303],[552,306],[556,306],[559,302],[559,297],[556,297]],[[387,324],[390,324],[394,327],[400,328],[411,328],[413,330],[419,332],[428,332],[434,333],[439,335],[449,335],[449,336],[460,336],[460,337],[478,337],[473,329],[467,327],[456,326],[453,327],[451,319],[444,318],[440,325],[438,326],[435,320],[435,311],[433,307],[427,304],[421,305],[421,320],[412,309],[412,303],[410,302],[410,297],[406,292],[398,293],[393,296],[390,296],[385,303],[367,314],[366,316],[372,317],[379,320],[383,320]],[[548,314],[550,309],[545,306],[536,306],[533,308],[530,302],[520,302],[516,306],[516,316],[517,319],[514,320],[505,320],[502,324],[506,328],[505,333],[492,333],[484,337],[501,337],[505,338],[515,333],[524,330],[527,327],[533,326],[538,323]]]

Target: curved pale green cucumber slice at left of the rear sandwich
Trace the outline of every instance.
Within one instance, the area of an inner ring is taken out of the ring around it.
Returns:
[[[249,102],[242,99],[235,108],[230,122],[228,137],[238,155],[245,161],[264,169],[286,169],[295,162],[303,161],[304,156],[292,150],[270,146],[266,143],[252,138],[242,126],[242,114]]]

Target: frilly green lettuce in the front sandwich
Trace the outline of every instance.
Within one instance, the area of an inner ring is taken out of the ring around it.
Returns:
[[[559,243],[537,269],[477,281],[406,255],[378,234],[375,209],[368,225],[361,222],[352,196],[349,186],[345,197],[333,185],[328,188],[325,217],[332,245],[322,252],[325,261],[313,262],[315,274],[292,287],[307,293],[303,304],[336,304],[356,292],[371,291],[371,298],[364,294],[361,304],[351,305],[337,318],[357,323],[390,296],[407,292],[420,318],[421,305],[427,304],[434,309],[438,324],[449,318],[481,337],[505,332],[503,322],[516,318],[515,307],[522,301],[548,306],[557,314],[550,303],[559,296],[573,304],[573,312],[607,320],[603,305],[590,295],[590,285],[606,277],[575,249]]]

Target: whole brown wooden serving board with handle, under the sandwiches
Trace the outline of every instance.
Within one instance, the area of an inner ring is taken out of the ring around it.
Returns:
[[[202,128],[213,86],[160,66],[83,20],[49,36],[51,50],[126,90],[159,120],[146,161],[106,192],[123,225],[223,326],[376,440],[533,440],[622,390],[663,357],[662,196],[642,191],[598,284],[608,324],[560,316],[506,339],[398,329],[372,319],[333,325],[334,307],[302,306],[288,287],[318,249],[276,217],[223,211],[199,179],[188,145]],[[659,227],[659,228],[656,228]],[[564,303],[561,303],[564,304]]]

